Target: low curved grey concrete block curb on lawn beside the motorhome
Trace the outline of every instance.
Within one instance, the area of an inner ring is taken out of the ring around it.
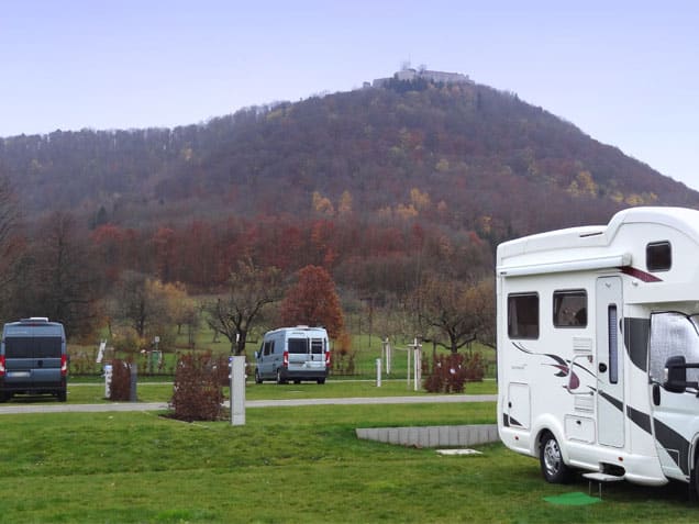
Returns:
[[[418,447],[473,446],[499,442],[496,424],[423,427],[368,427],[355,430],[366,441]]]

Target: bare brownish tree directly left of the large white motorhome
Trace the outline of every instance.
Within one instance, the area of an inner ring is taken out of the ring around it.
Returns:
[[[495,345],[495,290],[490,279],[475,285],[429,277],[412,297],[418,330],[456,354],[479,341]]]

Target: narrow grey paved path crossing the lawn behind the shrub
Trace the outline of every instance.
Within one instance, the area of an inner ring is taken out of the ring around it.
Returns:
[[[277,408],[296,405],[358,405],[358,404],[428,404],[455,402],[495,402],[496,394],[450,394],[422,397],[366,397],[343,399],[289,399],[289,400],[248,400],[245,408]],[[226,402],[228,405],[228,402]],[[167,402],[112,402],[109,404],[4,404],[0,405],[0,415],[18,413],[103,413],[110,411],[163,411]]]

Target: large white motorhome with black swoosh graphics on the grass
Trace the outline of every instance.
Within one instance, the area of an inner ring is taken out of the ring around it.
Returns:
[[[498,426],[544,478],[581,469],[699,491],[699,211],[498,246]]]

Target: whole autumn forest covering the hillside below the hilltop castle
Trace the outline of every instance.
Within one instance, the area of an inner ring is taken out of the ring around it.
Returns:
[[[407,311],[437,280],[478,289],[502,241],[699,204],[515,94],[426,82],[173,130],[0,138],[0,316],[84,336],[125,290],[217,296],[241,263],[287,285],[321,267],[348,311]]]

